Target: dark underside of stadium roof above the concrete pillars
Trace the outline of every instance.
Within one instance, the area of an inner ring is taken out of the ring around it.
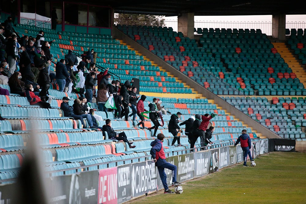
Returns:
[[[195,16],[306,14],[306,1],[300,0],[89,0],[89,2],[109,5],[118,13],[166,16],[177,16],[186,12],[194,12]]]

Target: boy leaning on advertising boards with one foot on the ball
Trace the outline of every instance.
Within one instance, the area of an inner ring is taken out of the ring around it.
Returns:
[[[176,172],[177,167],[176,165],[170,164],[166,161],[166,156],[164,152],[164,148],[162,146],[162,142],[164,141],[165,135],[162,133],[159,133],[157,135],[157,139],[155,139],[153,142],[151,142],[151,151],[150,154],[152,155],[152,158],[154,159],[155,166],[157,166],[160,179],[162,180],[162,185],[165,188],[164,193],[174,193],[168,188],[167,185],[167,176],[165,173],[165,168],[172,170],[172,186],[178,186],[182,183],[176,181]]]

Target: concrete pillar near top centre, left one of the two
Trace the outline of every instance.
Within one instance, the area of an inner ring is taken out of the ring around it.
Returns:
[[[193,39],[194,13],[182,13],[181,16],[178,16],[177,28],[178,32],[182,32],[185,37]]]

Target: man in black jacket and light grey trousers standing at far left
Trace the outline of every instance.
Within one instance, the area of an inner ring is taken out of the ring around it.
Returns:
[[[18,48],[17,48],[17,36],[12,35],[6,42],[6,55],[9,63],[9,72],[11,74],[16,70],[16,61],[18,57]]]

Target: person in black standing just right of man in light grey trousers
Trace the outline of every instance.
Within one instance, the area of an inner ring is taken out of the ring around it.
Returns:
[[[25,51],[25,47],[21,46],[19,50],[21,57],[20,57],[20,73],[22,76],[22,80],[25,84],[30,84],[33,82],[34,74],[31,69],[31,59],[28,53]]]

